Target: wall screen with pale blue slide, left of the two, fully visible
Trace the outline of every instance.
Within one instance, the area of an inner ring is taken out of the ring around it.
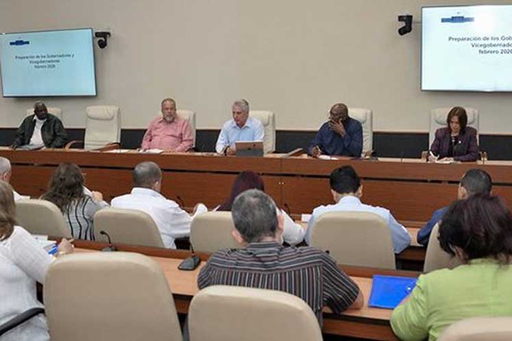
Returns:
[[[0,34],[4,97],[96,96],[92,29]]]

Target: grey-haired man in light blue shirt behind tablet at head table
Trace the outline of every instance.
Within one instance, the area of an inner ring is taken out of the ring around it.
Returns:
[[[264,128],[257,118],[249,117],[249,103],[245,99],[235,101],[231,107],[233,119],[220,130],[215,150],[219,154],[235,155],[235,142],[263,141]]]

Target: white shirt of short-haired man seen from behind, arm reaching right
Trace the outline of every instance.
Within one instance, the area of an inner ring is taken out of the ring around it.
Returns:
[[[159,192],[140,187],[134,187],[130,194],[112,199],[111,205],[149,214],[160,231],[164,246],[168,249],[176,249],[175,239],[190,235],[192,218],[208,210],[205,205],[199,204],[194,216],[190,216],[181,210],[177,203],[166,199]]]

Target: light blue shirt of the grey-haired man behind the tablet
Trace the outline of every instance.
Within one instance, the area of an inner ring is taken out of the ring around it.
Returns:
[[[263,125],[257,118],[248,117],[245,125],[240,128],[235,120],[227,121],[218,134],[215,150],[222,153],[226,147],[235,147],[235,142],[263,141]]]

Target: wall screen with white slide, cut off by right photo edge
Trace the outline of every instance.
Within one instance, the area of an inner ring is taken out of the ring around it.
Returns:
[[[512,91],[512,5],[422,8],[422,90]]]

